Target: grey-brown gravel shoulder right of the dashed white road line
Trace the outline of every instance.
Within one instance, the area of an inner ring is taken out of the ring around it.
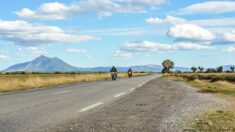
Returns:
[[[190,86],[155,79],[115,102],[90,110],[46,131],[56,132],[177,132],[193,117],[229,105]]]

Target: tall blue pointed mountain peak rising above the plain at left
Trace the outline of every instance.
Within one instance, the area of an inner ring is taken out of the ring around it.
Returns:
[[[25,72],[69,72],[69,71],[78,71],[77,67],[71,66],[61,59],[54,57],[49,58],[46,56],[39,56],[36,59],[25,62],[21,64],[16,64],[10,66],[3,72],[15,72],[15,71],[25,71]]]

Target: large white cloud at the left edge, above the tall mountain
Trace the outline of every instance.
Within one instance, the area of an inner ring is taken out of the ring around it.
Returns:
[[[30,47],[50,43],[80,43],[95,39],[89,35],[68,34],[56,26],[30,24],[20,20],[0,20],[0,37],[2,40]]]

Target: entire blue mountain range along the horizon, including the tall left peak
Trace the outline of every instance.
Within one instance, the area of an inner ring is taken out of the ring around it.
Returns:
[[[224,66],[224,70],[228,70],[231,65]],[[161,72],[162,70],[161,65],[139,65],[139,66],[131,66],[131,69],[135,72]],[[92,67],[92,68],[79,68],[72,66],[63,60],[53,57],[49,58],[46,56],[39,56],[36,59],[15,64],[13,66],[10,66],[3,72],[17,72],[17,71],[25,71],[25,72],[109,72],[111,67]],[[117,70],[119,72],[126,72],[129,69],[129,67],[117,67]],[[187,67],[175,67],[173,69],[174,71],[180,70],[180,71],[191,71],[190,68]]]

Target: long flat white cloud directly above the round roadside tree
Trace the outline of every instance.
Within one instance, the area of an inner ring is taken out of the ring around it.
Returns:
[[[122,45],[122,50],[129,52],[154,52],[161,53],[174,50],[201,50],[212,49],[209,45],[197,43],[175,43],[175,44],[162,44],[159,42],[138,41],[126,42]]]

